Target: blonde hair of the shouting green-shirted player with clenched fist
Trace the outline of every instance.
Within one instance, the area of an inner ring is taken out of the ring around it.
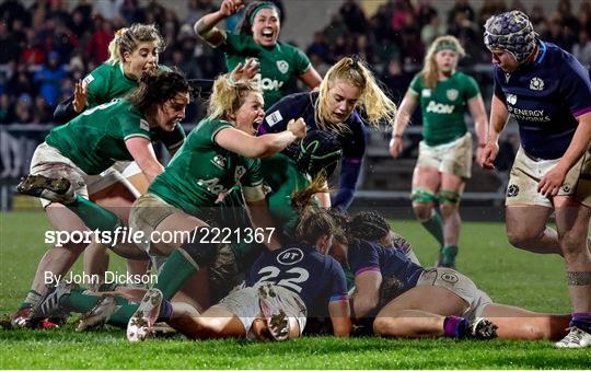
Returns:
[[[213,92],[209,97],[207,115],[211,118],[229,120],[236,113],[246,95],[255,92],[263,94],[258,84],[252,80],[233,81],[228,74],[222,74],[213,81]]]

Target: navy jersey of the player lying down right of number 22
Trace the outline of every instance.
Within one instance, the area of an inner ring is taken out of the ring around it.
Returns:
[[[364,271],[379,271],[382,276],[396,277],[403,286],[401,293],[414,288],[425,270],[401,250],[384,247],[364,240],[357,240],[349,245],[347,260],[355,276]]]

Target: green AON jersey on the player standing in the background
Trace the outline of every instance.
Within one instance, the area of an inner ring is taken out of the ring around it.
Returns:
[[[428,146],[449,143],[466,134],[467,101],[480,93],[473,78],[455,71],[449,79],[438,81],[434,89],[429,89],[419,73],[409,89],[419,96],[422,137]]]

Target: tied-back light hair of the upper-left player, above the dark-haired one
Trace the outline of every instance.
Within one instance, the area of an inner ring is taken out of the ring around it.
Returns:
[[[124,60],[126,51],[134,51],[139,43],[157,42],[158,51],[161,53],[166,47],[164,38],[153,24],[134,23],[129,27],[119,28],[115,32],[115,37],[108,44],[107,63],[115,65]]]

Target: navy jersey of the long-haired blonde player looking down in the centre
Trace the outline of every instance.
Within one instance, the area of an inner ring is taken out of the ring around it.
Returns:
[[[317,130],[315,118],[315,105],[318,98],[317,92],[296,93],[281,98],[267,109],[263,124],[258,127],[258,134],[280,132],[287,129],[290,119],[302,117],[308,130]],[[348,130],[338,132],[337,138],[343,146],[343,161],[361,160],[366,153],[367,129],[357,109],[345,120]]]

